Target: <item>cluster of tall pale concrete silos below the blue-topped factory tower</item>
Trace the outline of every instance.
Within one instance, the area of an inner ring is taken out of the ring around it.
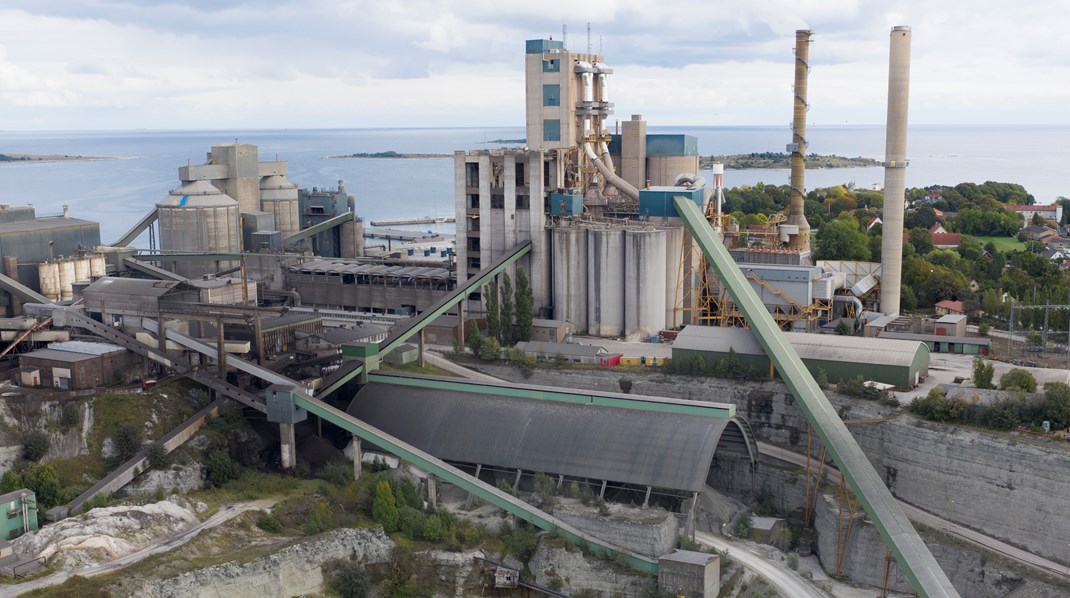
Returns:
[[[679,227],[572,221],[551,236],[555,319],[603,337],[647,338],[672,325]]]

